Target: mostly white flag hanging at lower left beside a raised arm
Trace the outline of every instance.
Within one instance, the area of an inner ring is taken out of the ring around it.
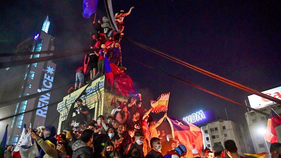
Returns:
[[[26,137],[22,140],[19,148],[22,158],[37,157],[40,155],[34,139],[31,139],[30,133],[27,133]]]

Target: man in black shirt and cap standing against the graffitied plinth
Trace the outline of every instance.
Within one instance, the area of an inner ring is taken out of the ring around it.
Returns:
[[[89,108],[84,106],[83,100],[82,99],[77,99],[77,107],[75,112],[76,115],[76,123],[79,123],[80,125],[86,124],[87,123],[87,114],[89,113]]]

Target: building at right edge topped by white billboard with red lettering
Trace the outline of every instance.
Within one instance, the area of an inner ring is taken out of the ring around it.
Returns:
[[[281,87],[274,89],[269,89],[264,92],[264,94],[270,95],[272,97],[281,99]],[[276,104],[270,100],[264,99],[257,95],[248,96],[249,104],[252,108],[258,109],[262,112],[270,114],[272,107],[279,115],[281,115],[281,105]],[[269,152],[270,143],[264,140],[264,134],[267,128],[268,116],[260,114],[255,111],[249,111],[245,113],[247,124],[249,126],[249,131],[254,144],[255,153]],[[277,139],[281,141],[281,126],[276,127]]]

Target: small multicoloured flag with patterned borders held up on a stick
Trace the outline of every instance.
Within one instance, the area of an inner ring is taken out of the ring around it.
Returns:
[[[167,112],[170,93],[162,93],[157,100],[150,100],[153,113]]]

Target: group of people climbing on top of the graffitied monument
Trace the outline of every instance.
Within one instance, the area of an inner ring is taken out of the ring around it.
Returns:
[[[83,63],[84,66],[76,69],[74,90],[82,87],[86,81],[84,81],[84,79],[87,77],[88,71],[90,72],[89,80],[94,80],[104,74],[105,58],[114,63],[117,67],[121,66],[122,52],[120,40],[122,35],[124,35],[122,31],[125,26],[123,20],[124,17],[130,15],[133,8],[134,7],[131,7],[128,13],[125,13],[124,9],[121,9],[119,13],[115,14],[115,21],[119,29],[118,33],[111,28],[107,17],[99,19],[97,23],[95,21],[93,22],[94,28],[91,32],[92,42],[90,48],[100,48],[100,50],[87,53]],[[111,46],[106,46],[106,42],[112,43]]]

